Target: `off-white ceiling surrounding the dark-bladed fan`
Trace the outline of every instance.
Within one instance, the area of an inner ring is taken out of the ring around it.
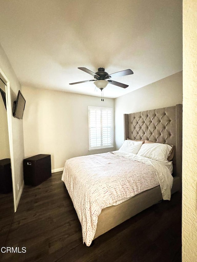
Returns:
[[[180,0],[0,0],[0,43],[22,86],[100,96],[78,69],[109,74],[115,98],[182,70]]]

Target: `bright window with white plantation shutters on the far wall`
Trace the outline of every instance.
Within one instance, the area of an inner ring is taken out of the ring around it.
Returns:
[[[112,108],[88,107],[89,150],[113,147]]]

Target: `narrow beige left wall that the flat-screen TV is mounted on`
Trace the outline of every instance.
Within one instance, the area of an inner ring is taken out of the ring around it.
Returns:
[[[10,65],[10,62],[0,45],[0,68],[10,81],[10,93],[11,93],[11,106],[14,100],[17,98],[18,90],[21,89],[21,85],[15,75],[15,72]],[[23,158],[24,158],[24,143],[23,143],[23,126],[22,120],[11,117],[12,135],[13,135],[13,154],[14,154],[14,197],[15,203],[18,204],[20,199],[20,193],[22,192],[23,185]],[[17,184],[19,183],[19,190]]]

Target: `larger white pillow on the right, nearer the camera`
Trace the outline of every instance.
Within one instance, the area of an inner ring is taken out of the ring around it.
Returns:
[[[167,158],[172,147],[167,144],[147,143],[143,144],[138,155],[151,158],[160,162],[168,162]]]

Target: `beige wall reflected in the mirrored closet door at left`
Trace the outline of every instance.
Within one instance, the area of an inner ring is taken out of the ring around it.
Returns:
[[[5,84],[0,80],[0,88],[5,92]],[[7,113],[0,94],[0,159],[10,158]]]

